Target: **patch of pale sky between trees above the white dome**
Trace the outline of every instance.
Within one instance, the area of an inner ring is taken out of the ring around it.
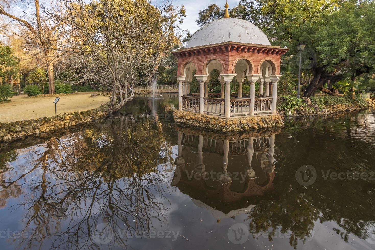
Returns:
[[[238,4],[239,0],[227,0],[230,7],[234,7]],[[189,30],[192,34],[197,31],[200,27],[196,24],[198,19],[199,10],[204,9],[210,4],[216,3],[221,8],[224,8],[225,0],[174,0],[174,6],[184,5],[186,9],[186,18],[181,25],[183,30]]]

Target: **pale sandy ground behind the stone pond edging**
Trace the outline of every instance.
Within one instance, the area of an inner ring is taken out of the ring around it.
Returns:
[[[60,97],[57,103],[57,114],[74,111],[86,111],[99,107],[109,101],[108,97],[90,97],[91,92],[81,92]],[[26,97],[17,95],[9,103],[0,104],[0,122],[15,122],[23,119],[30,120],[43,116],[55,115],[56,97]]]

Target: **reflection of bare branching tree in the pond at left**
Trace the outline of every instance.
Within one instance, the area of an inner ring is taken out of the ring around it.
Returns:
[[[101,223],[113,231],[110,244],[126,247],[125,232],[165,224],[168,186],[155,173],[162,134],[147,129],[147,121],[135,126],[132,115],[114,121],[99,135],[51,138],[29,170],[7,171],[3,189],[27,186],[17,208],[27,211],[24,231],[33,235],[19,248],[100,248],[93,233]]]

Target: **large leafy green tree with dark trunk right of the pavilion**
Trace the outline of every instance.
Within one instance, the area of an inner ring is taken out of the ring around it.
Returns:
[[[261,11],[268,16],[268,37],[274,45],[287,45],[297,64],[298,43],[306,43],[304,68],[311,68],[314,79],[305,96],[324,88],[327,80],[337,82],[374,72],[374,2],[261,0]],[[287,55],[288,56],[288,55]],[[297,66],[296,66],[297,67]]]

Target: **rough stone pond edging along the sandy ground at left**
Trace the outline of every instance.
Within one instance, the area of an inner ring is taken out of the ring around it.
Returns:
[[[38,137],[54,133],[62,128],[70,128],[76,125],[90,124],[94,120],[108,115],[108,103],[102,104],[96,109],[42,117],[39,119],[23,120],[11,123],[0,123],[0,143],[23,139],[27,136]]]

